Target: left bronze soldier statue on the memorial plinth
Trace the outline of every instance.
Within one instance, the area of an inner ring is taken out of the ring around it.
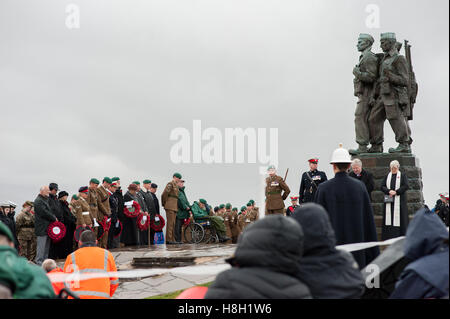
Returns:
[[[349,150],[352,155],[367,153],[370,142],[369,102],[378,77],[378,58],[371,51],[373,42],[374,39],[370,34],[361,33],[356,45],[361,52],[359,63],[353,69],[354,95],[358,97],[355,110],[355,136],[359,146],[356,150]]]

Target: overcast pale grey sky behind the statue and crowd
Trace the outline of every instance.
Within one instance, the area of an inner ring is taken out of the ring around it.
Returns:
[[[66,27],[66,6],[80,28]],[[369,4],[380,27],[368,28]],[[448,191],[448,1],[73,0],[0,2],[0,199],[22,204],[57,182],[179,171],[188,199],[261,203],[256,164],[174,164],[170,133],[278,128],[279,173],[298,193],[307,159],[354,148],[358,34],[412,45],[419,83],[413,152],[424,195]],[[389,124],[385,149],[396,146]],[[160,193],[159,192],[159,193]]]

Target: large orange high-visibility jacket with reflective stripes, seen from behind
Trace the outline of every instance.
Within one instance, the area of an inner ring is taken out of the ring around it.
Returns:
[[[81,299],[108,299],[114,295],[119,286],[115,276],[79,280],[77,274],[96,274],[116,272],[114,257],[106,249],[99,247],[79,248],[67,256],[64,264],[65,273],[74,273],[66,285]]]

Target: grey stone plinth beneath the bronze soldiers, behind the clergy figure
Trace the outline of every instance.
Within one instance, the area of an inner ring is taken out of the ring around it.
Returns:
[[[423,183],[422,183],[422,169],[419,165],[419,159],[414,154],[361,154],[352,156],[352,159],[359,158],[363,163],[363,168],[372,173],[375,190],[370,194],[372,200],[373,213],[375,217],[375,224],[377,226],[378,238],[381,236],[381,223],[383,218],[384,208],[384,193],[381,191],[381,183],[383,178],[389,173],[389,164],[397,160],[400,163],[400,171],[408,177],[409,190],[406,191],[408,201],[408,214],[410,219],[414,213],[423,207]]]

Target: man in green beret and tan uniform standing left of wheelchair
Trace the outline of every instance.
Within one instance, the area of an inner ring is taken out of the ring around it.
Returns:
[[[161,204],[166,211],[166,244],[176,244],[174,230],[178,212],[178,181],[181,180],[180,173],[174,173],[172,180],[167,183],[161,194]]]

